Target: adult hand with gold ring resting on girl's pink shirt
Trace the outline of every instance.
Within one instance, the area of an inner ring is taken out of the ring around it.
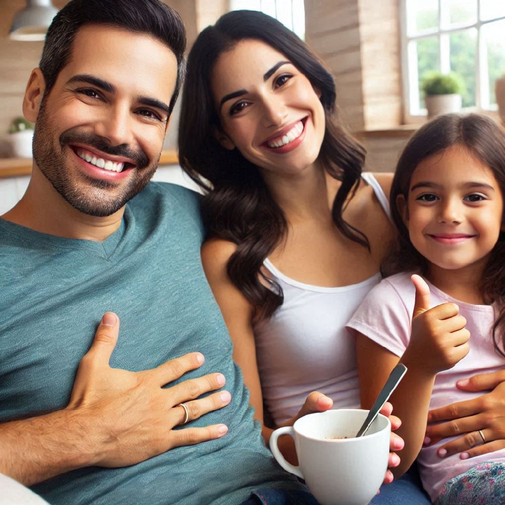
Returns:
[[[456,385],[464,391],[489,392],[431,411],[425,445],[461,435],[440,446],[438,456],[444,458],[461,452],[463,460],[505,448],[505,370],[474,375]]]

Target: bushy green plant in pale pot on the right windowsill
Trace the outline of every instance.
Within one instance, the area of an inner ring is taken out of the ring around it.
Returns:
[[[465,89],[463,79],[456,73],[428,74],[422,83],[428,117],[458,112],[461,109],[461,94]]]

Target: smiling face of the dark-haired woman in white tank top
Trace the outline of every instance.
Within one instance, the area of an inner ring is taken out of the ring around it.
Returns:
[[[265,175],[298,174],[316,161],[325,132],[320,93],[283,54],[241,40],[218,58],[211,83],[224,147]]]

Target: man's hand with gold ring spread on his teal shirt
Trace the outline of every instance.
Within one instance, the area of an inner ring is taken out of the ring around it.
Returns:
[[[173,447],[219,438],[227,432],[225,425],[173,430],[185,419],[185,410],[178,406],[181,402],[186,403],[189,421],[230,402],[228,391],[195,399],[224,385],[225,378],[219,373],[163,388],[203,364],[203,355],[193,352],[143,372],[113,369],[109,360],[118,335],[119,319],[109,312],[79,364],[67,407],[88,420],[90,443],[96,447],[93,465],[133,465]]]

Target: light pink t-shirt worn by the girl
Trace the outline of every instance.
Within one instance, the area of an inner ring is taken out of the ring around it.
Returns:
[[[347,328],[359,331],[396,356],[402,356],[410,340],[414,309],[415,289],[410,276],[410,273],[393,275],[375,286],[352,316]],[[433,284],[428,284],[432,307],[447,301],[455,302],[460,308],[460,314],[466,318],[466,327],[471,334],[469,354],[450,370],[437,374],[430,401],[430,409],[436,409],[483,394],[461,391],[456,387],[456,381],[500,369],[505,365],[505,358],[499,356],[493,348],[492,306],[467,304],[451,298]],[[452,477],[479,463],[503,461],[505,457],[505,450],[501,449],[468,460],[460,459],[459,454],[440,458],[436,453],[437,448],[448,440],[446,438],[438,444],[423,447],[417,458],[421,480],[433,501],[437,499],[443,484]]]

